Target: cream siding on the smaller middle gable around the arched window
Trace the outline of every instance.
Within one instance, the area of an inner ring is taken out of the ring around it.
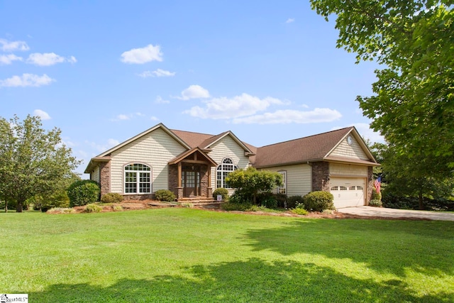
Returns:
[[[244,149],[231,136],[225,136],[211,145],[211,152],[208,155],[218,165],[224,158],[231,158],[238,168],[247,168],[249,164],[249,158],[244,155]],[[211,167],[211,187],[213,190],[216,189],[216,167]],[[230,190],[229,194],[233,194],[233,190]]]

